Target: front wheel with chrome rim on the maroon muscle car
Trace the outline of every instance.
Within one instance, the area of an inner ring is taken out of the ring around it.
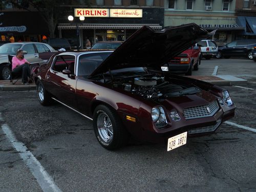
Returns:
[[[104,127],[104,129],[98,127]],[[95,108],[93,128],[97,140],[107,150],[115,150],[128,142],[129,134],[127,130],[115,110],[108,106],[98,105]]]

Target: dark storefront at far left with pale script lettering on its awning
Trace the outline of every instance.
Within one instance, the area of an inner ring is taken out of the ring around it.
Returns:
[[[0,12],[1,41],[41,41],[48,34],[47,24],[38,12]]]

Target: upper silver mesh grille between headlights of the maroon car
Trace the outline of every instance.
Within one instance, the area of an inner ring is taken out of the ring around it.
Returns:
[[[214,115],[219,110],[219,105],[217,100],[214,102],[201,105],[201,106],[193,106],[191,108],[185,108],[183,110],[183,115],[186,120],[188,119],[196,119],[202,117],[209,117]]]

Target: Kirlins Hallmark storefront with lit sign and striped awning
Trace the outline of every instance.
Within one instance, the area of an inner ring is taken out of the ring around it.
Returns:
[[[161,30],[164,22],[163,8],[75,8],[71,15],[72,22],[67,15],[58,24],[59,37],[69,39],[72,47],[76,47],[78,39],[81,49],[87,39],[92,45],[98,41],[124,41],[144,25]]]

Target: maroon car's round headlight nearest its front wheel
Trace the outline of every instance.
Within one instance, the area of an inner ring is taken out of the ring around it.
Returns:
[[[152,108],[151,116],[153,122],[158,128],[163,127],[167,124],[165,113],[161,106],[156,106],[155,108]]]

